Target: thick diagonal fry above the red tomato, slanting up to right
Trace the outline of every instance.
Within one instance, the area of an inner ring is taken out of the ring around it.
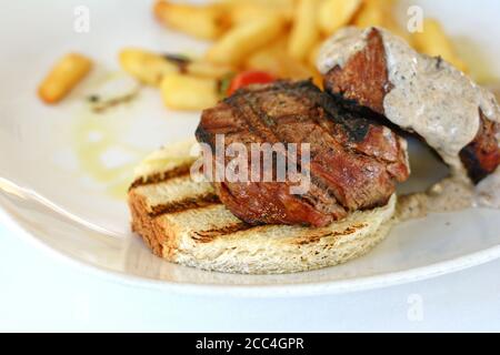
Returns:
[[[283,32],[284,21],[279,16],[267,16],[229,30],[207,52],[207,59],[221,65],[240,65],[256,50],[272,42]]]

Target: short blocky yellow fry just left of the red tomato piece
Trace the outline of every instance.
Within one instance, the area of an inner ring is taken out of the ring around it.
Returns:
[[[217,84],[214,79],[170,73],[161,81],[161,98],[172,110],[203,110],[217,104]]]

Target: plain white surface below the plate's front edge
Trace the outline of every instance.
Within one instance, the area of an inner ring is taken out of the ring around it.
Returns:
[[[193,297],[101,280],[0,226],[0,331],[500,331],[499,274],[497,261],[362,293]]]

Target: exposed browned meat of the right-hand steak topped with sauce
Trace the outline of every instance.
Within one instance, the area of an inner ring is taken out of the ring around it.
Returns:
[[[359,104],[384,114],[383,100],[393,85],[389,80],[383,39],[377,29],[371,30],[366,47],[354,53],[343,68],[336,65],[324,75],[324,88],[339,99],[339,102],[350,101],[354,105]],[[474,183],[492,173],[500,164],[497,139],[500,124],[488,120],[482,112],[476,139],[459,154]]]

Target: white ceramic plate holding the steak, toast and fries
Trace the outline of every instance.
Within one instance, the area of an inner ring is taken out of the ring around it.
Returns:
[[[481,7],[477,1],[420,3],[426,14],[440,18],[466,44],[466,53],[500,74],[498,1],[481,1]],[[73,11],[81,4],[90,10],[88,33],[73,28]],[[153,256],[129,230],[123,191],[132,166],[161,144],[191,135],[198,115],[166,110],[152,89],[103,115],[89,113],[82,99],[130,85],[118,73],[117,53],[123,47],[202,52],[203,43],[160,28],[150,6],[151,1],[114,0],[1,2],[0,204],[2,223],[19,235],[113,280],[238,296],[380,287],[500,256],[500,211],[488,210],[432,214],[401,224],[368,256],[292,275],[209,273]],[[62,104],[46,106],[36,97],[37,84],[54,59],[71,50],[96,59],[97,70]],[[418,166],[421,162],[414,160],[412,182],[403,189],[422,187],[446,173],[432,159],[426,168]]]

